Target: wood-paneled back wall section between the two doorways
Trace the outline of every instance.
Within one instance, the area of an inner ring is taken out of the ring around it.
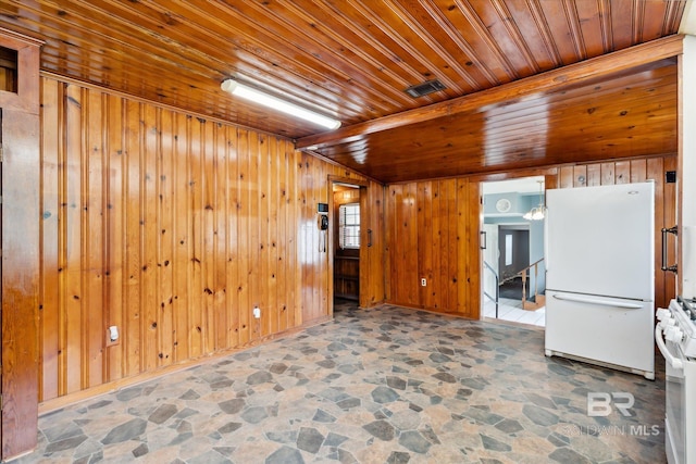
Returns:
[[[386,215],[387,301],[477,318],[478,183],[388,186]]]

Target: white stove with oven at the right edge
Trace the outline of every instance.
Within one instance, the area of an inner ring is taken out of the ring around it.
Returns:
[[[666,366],[667,461],[696,464],[696,302],[672,300],[657,315],[655,339]]]

